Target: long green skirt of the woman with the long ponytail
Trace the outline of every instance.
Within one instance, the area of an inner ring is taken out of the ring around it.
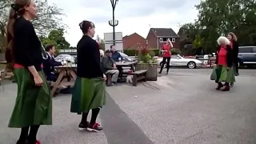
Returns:
[[[38,74],[43,80],[42,86],[35,86],[34,77],[28,69],[14,69],[18,92],[9,127],[22,128],[31,125],[52,124],[50,86],[48,86],[43,71],[38,71]]]

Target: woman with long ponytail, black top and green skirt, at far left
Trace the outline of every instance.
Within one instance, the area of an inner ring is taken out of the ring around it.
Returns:
[[[42,72],[42,44],[31,23],[34,18],[33,0],[16,0],[11,5],[6,61],[13,64],[18,84],[9,122],[9,127],[22,128],[17,144],[39,144],[36,140],[39,126],[52,124],[52,100]]]

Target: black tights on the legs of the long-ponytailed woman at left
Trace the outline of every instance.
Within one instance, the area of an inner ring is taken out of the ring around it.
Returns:
[[[22,132],[17,144],[23,144],[26,142],[26,140],[28,140],[28,144],[34,144],[37,141],[38,129],[39,125],[22,127]]]

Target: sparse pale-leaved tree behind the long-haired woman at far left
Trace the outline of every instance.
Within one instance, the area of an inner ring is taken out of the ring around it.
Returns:
[[[0,48],[6,46],[6,22],[9,15],[10,5],[13,0],[1,0],[0,1]],[[64,28],[62,19],[59,17],[62,14],[62,9],[59,9],[56,5],[49,5],[47,0],[35,0],[38,17],[34,19],[34,28],[38,34],[46,36],[51,30],[58,28]]]

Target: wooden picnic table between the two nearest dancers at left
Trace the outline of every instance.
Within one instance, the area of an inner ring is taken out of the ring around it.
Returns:
[[[50,90],[50,95],[54,96],[54,93],[58,89],[58,86],[73,86],[74,82],[70,82],[71,77],[74,78],[74,80],[77,78],[76,69],[77,66],[75,64],[67,65],[67,66],[55,66],[56,70],[58,70],[60,73],[58,75],[57,81],[53,83],[53,88]],[[65,74],[70,74],[67,76],[67,82],[62,82],[62,78]]]

